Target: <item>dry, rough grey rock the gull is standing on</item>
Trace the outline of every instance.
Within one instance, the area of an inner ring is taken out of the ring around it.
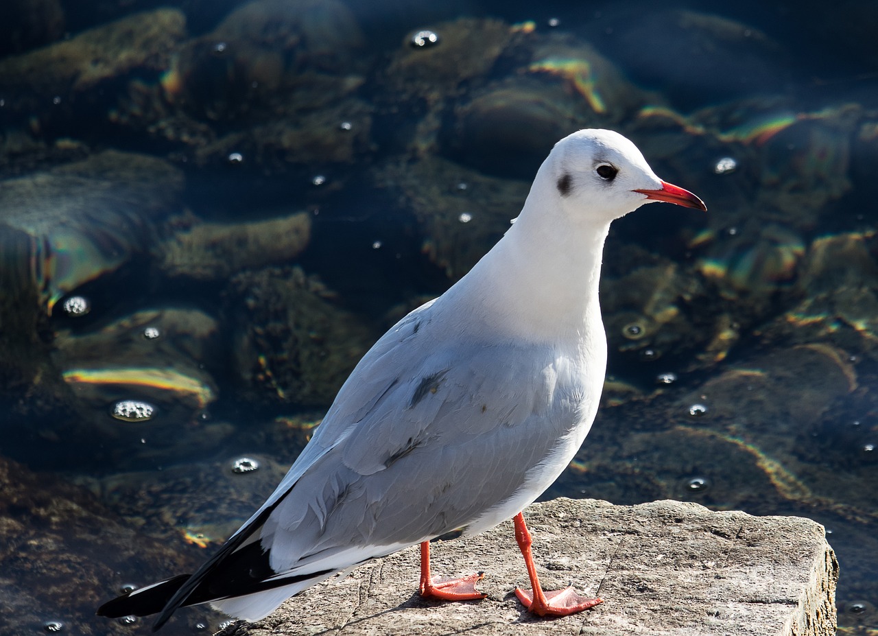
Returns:
[[[712,512],[685,502],[572,499],[536,504],[526,519],[543,587],[572,582],[603,604],[565,618],[525,611],[513,589],[529,582],[507,522],[432,550],[435,575],[484,568],[483,601],[422,600],[418,552],[409,548],[308,589],[263,621],[234,623],[219,634],[835,633],[838,561],[823,526],[810,519]]]

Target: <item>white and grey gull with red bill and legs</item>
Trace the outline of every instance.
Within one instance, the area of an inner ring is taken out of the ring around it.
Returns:
[[[607,368],[598,304],[610,223],[644,203],[707,210],[609,130],[558,141],[521,213],[471,271],[392,327],[351,372],[277,489],[193,575],[104,603],[101,616],[210,603],[259,620],[330,576],[421,546],[421,596],[473,600],[483,574],[430,574],[430,541],[514,519],[539,616],[601,603],[543,590],[522,510],[571,461]]]

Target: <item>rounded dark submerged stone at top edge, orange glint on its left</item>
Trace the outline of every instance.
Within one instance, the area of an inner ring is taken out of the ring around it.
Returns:
[[[162,83],[171,104],[197,119],[252,126],[313,109],[321,90],[337,99],[362,45],[337,0],[255,0],[180,47]]]

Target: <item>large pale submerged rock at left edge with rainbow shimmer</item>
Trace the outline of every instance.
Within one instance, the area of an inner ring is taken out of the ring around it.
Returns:
[[[4,268],[29,269],[51,314],[65,293],[148,249],[182,187],[182,173],[168,163],[117,150],[6,179],[4,224],[25,232],[32,245],[29,267],[9,263],[14,252],[4,250]]]

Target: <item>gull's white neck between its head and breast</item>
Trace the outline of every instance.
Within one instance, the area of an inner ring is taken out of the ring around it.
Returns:
[[[465,296],[457,307],[472,307],[472,318],[495,334],[530,342],[606,342],[598,284],[609,223],[558,228],[539,222],[541,211],[531,212],[530,203],[448,294]]]

